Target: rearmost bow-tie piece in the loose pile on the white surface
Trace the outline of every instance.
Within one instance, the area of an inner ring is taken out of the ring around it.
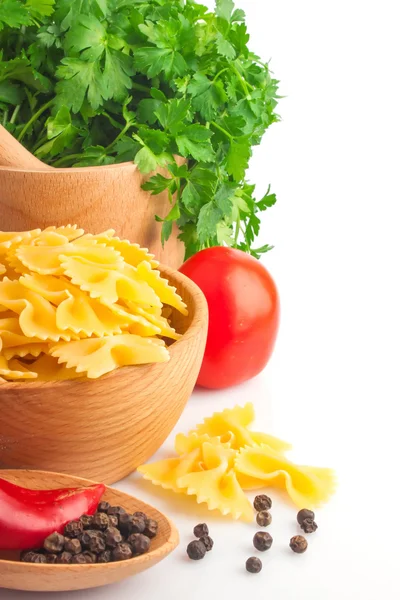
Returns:
[[[254,446],[259,443],[268,444],[278,452],[290,450],[291,445],[272,435],[252,432],[248,426],[254,421],[254,407],[249,402],[245,406],[227,408],[212,417],[204,419],[195,431],[210,437],[220,437],[221,442],[230,441],[235,450],[244,446]]]

